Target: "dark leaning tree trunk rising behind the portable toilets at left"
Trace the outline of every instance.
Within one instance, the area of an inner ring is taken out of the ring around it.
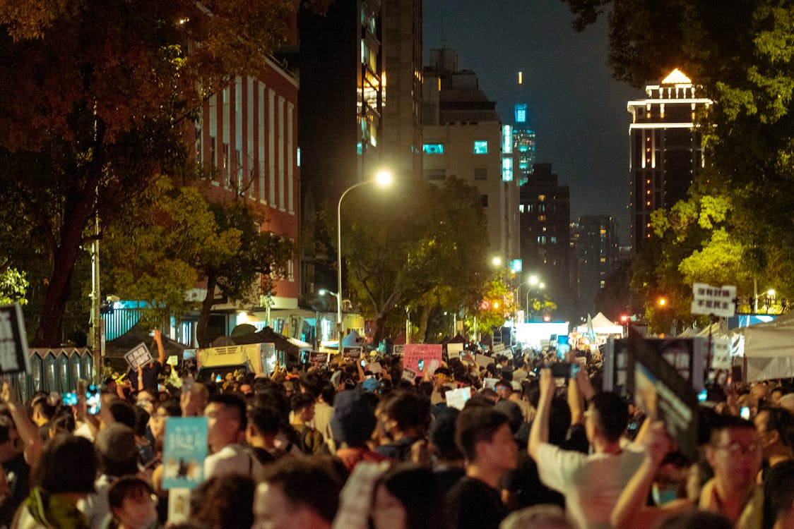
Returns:
[[[91,184],[87,184],[91,186]],[[84,187],[83,189],[88,189]],[[78,192],[79,194],[79,192]],[[64,224],[60,229],[60,243],[53,256],[52,273],[49,277],[47,293],[44,296],[44,308],[41,310],[41,320],[33,338],[33,347],[56,347],[60,340],[61,320],[64,317],[64,307],[69,296],[69,282],[71,274],[75,271],[77,255],[80,244],[83,243],[83,230],[85,229],[91,209],[93,209],[94,194],[79,194],[76,202],[67,201],[64,207]]]

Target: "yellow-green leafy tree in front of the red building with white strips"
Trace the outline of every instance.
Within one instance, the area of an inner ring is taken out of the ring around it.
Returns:
[[[125,218],[123,230],[106,236],[110,284],[128,299],[147,301],[148,320],[179,320],[198,308],[201,347],[210,341],[212,305],[258,303],[262,291],[272,293],[273,279],[293,256],[291,240],[261,231],[264,218],[243,198],[207,201],[198,187],[173,188],[167,178],[130,204]],[[200,279],[206,297],[200,303],[186,299]]]

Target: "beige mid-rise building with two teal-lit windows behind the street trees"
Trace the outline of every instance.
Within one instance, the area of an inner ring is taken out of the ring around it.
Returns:
[[[503,128],[495,102],[480,90],[473,71],[460,70],[449,48],[430,52],[424,69],[423,171],[442,183],[455,176],[480,190],[491,251],[518,259],[518,193],[503,171]]]

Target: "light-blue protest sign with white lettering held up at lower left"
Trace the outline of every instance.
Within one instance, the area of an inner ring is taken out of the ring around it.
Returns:
[[[206,417],[165,421],[163,489],[195,489],[204,477]]]

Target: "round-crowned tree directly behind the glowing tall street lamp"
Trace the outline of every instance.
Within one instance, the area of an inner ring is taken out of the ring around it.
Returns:
[[[488,237],[470,186],[457,178],[442,187],[407,180],[388,194],[357,190],[347,200],[342,255],[364,316],[376,321],[376,342],[395,312],[419,311],[424,339],[435,306],[457,310],[476,301]]]

